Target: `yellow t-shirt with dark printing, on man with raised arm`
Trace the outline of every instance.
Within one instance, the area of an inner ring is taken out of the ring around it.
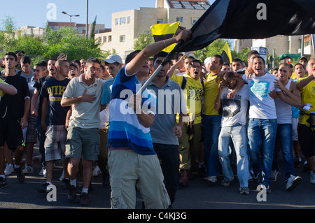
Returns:
[[[195,120],[195,124],[201,123],[202,95],[204,94],[201,80],[199,78],[195,80],[187,73],[184,75],[174,74],[172,75],[171,80],[179,83],[179,86],[181,86],[183,77],[187,80],[185,86],[186,91],[183,91],[183,96],[185,97],[187,112],[189,113],[190,120]]]

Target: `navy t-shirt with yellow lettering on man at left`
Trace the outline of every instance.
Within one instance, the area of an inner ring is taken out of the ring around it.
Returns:
[[[69,82],[68,78],[64,80],[51,78],[43,83],[41,96],[48,99],[50,108],[48,125],[64,125],[66,123],[66,113],[71,106],[62,107],[60,102]]]

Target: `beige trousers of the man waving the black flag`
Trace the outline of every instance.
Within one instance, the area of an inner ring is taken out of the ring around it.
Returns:
[[[139,189],[148,209],[170,205],[158,156],[141,155],[134,150],[109,150],[111,208],[135,209]]]

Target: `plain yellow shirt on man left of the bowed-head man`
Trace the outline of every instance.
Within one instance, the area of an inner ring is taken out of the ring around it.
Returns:
[[[212,76],[208,73],[206,84],[204,85],[204,111],[203,115],[218,115],[218,110],[214,109],[214,103],[216,96],[218,96],[218,85],[220,82],[216,82],[216,76]]]

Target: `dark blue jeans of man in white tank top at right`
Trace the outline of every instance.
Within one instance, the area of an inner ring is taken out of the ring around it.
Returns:
[[[281,148],[283,154],[283,164],[286,171],[286,180],[290,174],[296,175],[292,151],[292,124],[278,124],[276,129],[276,146],[274,148],[274,161],[272,170],[279,171],[278,148]]]

